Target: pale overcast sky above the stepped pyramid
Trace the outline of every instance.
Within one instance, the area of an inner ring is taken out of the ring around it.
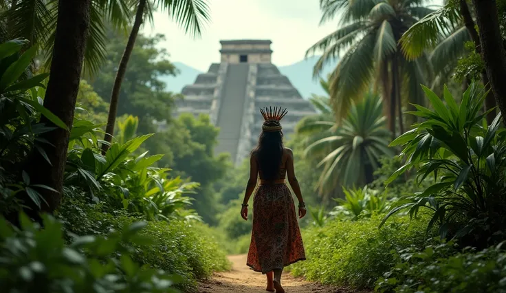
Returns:
[[[337,28],[337,21],[320,25],[319,0],[207,0],[211,20],[200,38],[184,34],[166,13],[156,12],[144,34],[164,34],[160,45],[170,61],[202,72],[219,63],[221,40],[270,39],[272,63],[290,65],[303,60],[306,50]]]

